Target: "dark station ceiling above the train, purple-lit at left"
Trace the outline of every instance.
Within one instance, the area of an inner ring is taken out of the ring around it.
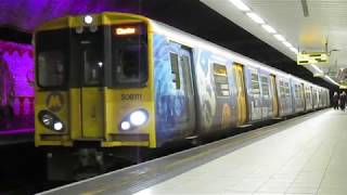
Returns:
[[[256,2],[260,1],[253,0],[253,3]],[[261,8],[261,3],[258,4]],[[336,90],[336,86],[313,77],[311,72],[296,65],[293,57],[281,52],[281,49],[260,40],[198,0],[2,0],[0,2],[0,25],[2,27],[0,39],[17,38],[28,41],[35,27],[46,21],[66,14],[76,15],[102,11],[143,14],[261,63]],[[283,28],[283,32],[285,30],[286,28]]]

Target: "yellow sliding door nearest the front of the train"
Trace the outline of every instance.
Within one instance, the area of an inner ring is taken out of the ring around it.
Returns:
[[[237,125],[241,126],[247,120],[246,90],[244,69],[241,64],[233,64],[237,86]]]

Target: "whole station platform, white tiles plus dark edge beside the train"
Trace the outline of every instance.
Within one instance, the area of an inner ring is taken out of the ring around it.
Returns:
[[[331,108],[41,194],[347,194],[347,113]]]

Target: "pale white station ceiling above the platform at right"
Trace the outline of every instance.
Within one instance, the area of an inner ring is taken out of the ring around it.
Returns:
[[[201,0],[233,23],[272,46],[293,61],[295,48],[305,53],[327,53],[329,63],[316,67],[305,65],[312,73],[323,72],[336,81],[344,81],[347,67],[346,0]],[[249,10],[241,11],[232,2],[242,1]],[[255,23],[248,13],[256,13],[262,23]],[[270,25],[274,31],[262,27]],[[273,36],[282,35],[287,46]],[[320,70],[317,70],[318,68]]]

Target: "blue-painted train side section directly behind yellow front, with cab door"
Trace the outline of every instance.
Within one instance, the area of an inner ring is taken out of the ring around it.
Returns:
[[[183,67],[180,61],[183,57],[181,46],[159,35],[154,35],[153,44],[155,129],[160,145],[194,133],[195,103],[190,67]]]

